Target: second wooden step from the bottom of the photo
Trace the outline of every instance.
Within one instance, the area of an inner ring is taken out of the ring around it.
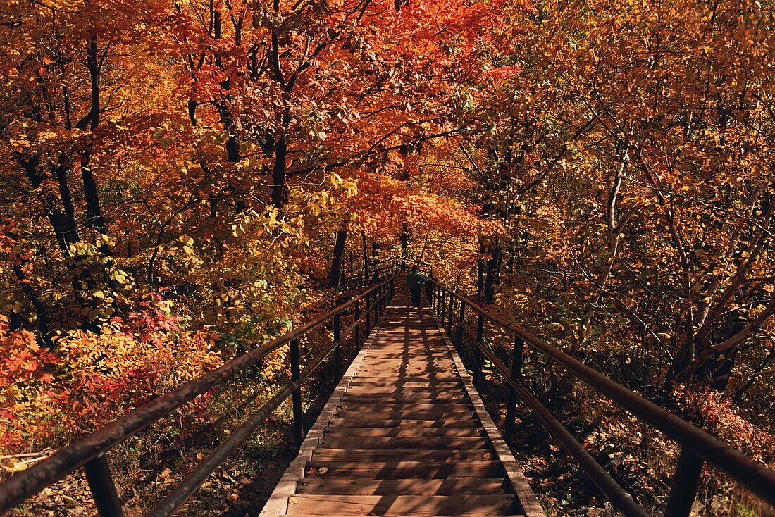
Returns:
[[[458,495],[505,494],[501,478],[453,479],[302,479],[296,485],[297,494],[337,495]]]

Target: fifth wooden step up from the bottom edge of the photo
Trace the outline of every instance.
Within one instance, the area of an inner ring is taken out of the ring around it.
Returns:
[[[360,436],[324,436],[320,447],[326,449],[438,449],[438,450],[479,450],[490,447],[490,440],[484,437],[474,438],[436,438],[429,436],[370,437]]]

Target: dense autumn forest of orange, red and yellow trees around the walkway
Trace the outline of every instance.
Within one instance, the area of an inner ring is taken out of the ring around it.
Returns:
[[[395,256],[773,464],[773,16],[746,0],[6,0],[3,469]],[[284,353],[244,385],[284,379]],[[677,449],[545,373],[580,439],[663,504]],[[194,406],[127,457],[229,412],[216,393]],[[547,508],[602,508],[563,500],[570,467],[522,460]],[[701,515],[771,515],[705,484]]]

